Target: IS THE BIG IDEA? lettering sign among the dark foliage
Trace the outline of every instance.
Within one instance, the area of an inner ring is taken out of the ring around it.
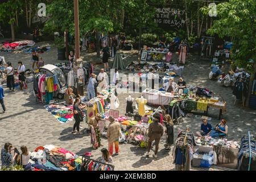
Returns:
[[[154,22],[162,28],[183,28],[185,24],[185,10],[163,7],[156,9]]]

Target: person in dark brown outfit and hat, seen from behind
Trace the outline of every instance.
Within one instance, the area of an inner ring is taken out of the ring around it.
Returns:
[[[150,149],[152,142],[155,140],[155,152],[153,154],[154,158],[157,158],[158,154],[158,148],[159,148],[159,142],[160,138],[163,136],[163,125],[160,123],[160,114],[155,113],[153,115],[154,117],[154,122],[150,123],[150,126],[148,128],[148,148],[147,148],[147,153],[146,156],[148,157],[150,155]]]

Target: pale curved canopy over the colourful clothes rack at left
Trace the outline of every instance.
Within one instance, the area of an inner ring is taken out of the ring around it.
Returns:
[[[61,87],[64,87],[67,84],[67,80],[63,71],[61,71],[61,69],[56,67],[55,65],[52,65],[52,64],[44,65],[39,69],[39,72],[42,72],[46,75],[56,75]]]

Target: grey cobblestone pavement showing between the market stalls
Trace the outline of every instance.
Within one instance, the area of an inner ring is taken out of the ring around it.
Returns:
[[[45,44],[45,43],[40,43]],[[125,52],[127,53],[127,52]],[[134,53],[134,54],[132,54]],[[127,62],[137,60],[135,51],[129,53]],[[84,52],[81,53],[85,55]],[[31,68],[30,57],[27,53],[6,53],[0,52],[1,56],[5,56],[6,61],[11,61],[14,67],[18,67],[18,61],[22,60],[26,68]],[[52,48],[46,53],[42,54],[46,63],[56,63],[57,52]],[[234,98],[232,97],[232,90],[230,88],[223,88],[215,81],[208,80],[209,63],[206,61],[198,61],[195,57],[190,56],[188,63],[185,65],[183,71],[183,78],[187,84],[199,85],[207,87],[221,96],[228,102],[228,112],[224,117],[228,120],[229,139],[240,140],[243,134],[248,130],[255,133],[255,110],[244,109],[241,105],[233,105]],[[86,55],[86,61],[93,61],[94,55]],[[193,60],[195,59],[195,60]],[[96,71],[102,65],[96,65]],[[138,97],[140,94],[132,94],[133,97]],[[82,135],[71,134],[73,122],[61,124],[52,115],[44,109],[43,104],[36,104],[35,97],[32,96],[32,84],[28,84],[28,89],[23,91],[16,91],[9,93],[5,89],[5,104],[7,111],[5,114],[0,113],[0,146],[5,142],[11,142],[14,146],[20,147],[26,145],[30,151],[38,146],[45,144],[54,144],[56,146],[64,147],[76,154],[84,154],[84,152],[92,152],[93,158],[98,158],[100,150],[93,150],[90,146],[89,134],[86,134],[86,123],[82,123]],[[125,98],[127,94],[120,94],[118,96],[121,102],[119,108],[121,114],[125,112]],[[218,110],[209,110],[211,123],[213,125],[218,123]],[[192,131],[200,130],[200,119],[184,118],[184,122],[175,126],[175,133],[178,128],[190,127]],[[107,140],[102,139],[104,147],[107,146]],[[172,152],[164,150],[164,137],[160,142],[158,158],[154,159],[152,156],[146,158],[144,156],[145,149],[137,148],[131,144],[120,144],[121,151],[118,156],[114,156],[114,163],[116,170],[174,170]],[[212,168],[193,168],[192,170],[233,170],[213,166]]]

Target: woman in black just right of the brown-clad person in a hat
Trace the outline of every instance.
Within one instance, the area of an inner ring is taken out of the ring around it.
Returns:
[[[165,133],[167,134],[166,144],[164,144],[164,147],[166,147],[166,150],[171,150],[171,146],[174,144],[174,122],[171,119],[171,115],[166,115],[164,125],[166,125]]]

